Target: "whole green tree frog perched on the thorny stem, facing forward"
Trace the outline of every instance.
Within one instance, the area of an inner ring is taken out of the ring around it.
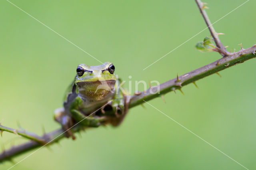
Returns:
[[[80,121],[84,127],[98,127],[106,123],[117,126],[122,122],[130,98],[120,90],[120,79],[116,78],[114,71],[115,67],[110,62],[96,66],[78,65],[76,77],[64,97],[63,108],[56,109],[54,114],[67,137],[75,139],[69,128]],[[115,114],[105,114],[105,110]]]

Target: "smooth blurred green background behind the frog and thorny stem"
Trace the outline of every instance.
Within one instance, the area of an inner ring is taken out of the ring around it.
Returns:
[[[209,36],[205,30],[148,69],[204,28],[194,0],[12,0],[71,42],[102,62],[111,61],[116,74],[133,85],[136,80],[172,79],[178,73],[220,58],[200,53],[195,44]],[[215,22],[245,0],[208,0]],[[240,49],[255,44],[256,2],[251,0],[214,24],[224,45]],[[62,106],[64,91],[79,63],[100,63],[10,4],[0,1],[0,119],[3,125],[42,134],[59,128],[54,109]],[[248,169],[256,169],[256,59],[188,85],[175,95],[149,103]],[[126,87],[128,84],[126,84]],[[133,89],[134,92],[134,89]],[[242,170],[242,166],[144,104],[130,109],[118,128],[87,130],[77,140],[42,148],[12,170],[177,169]],[[15,139],[15,140],[13,140]],[[10,142],[11,141],[11,142]],[[3,133],[5,148],[26,140]],[[14,159],[22,160],[28,152]],[[12,163],[5,162],[0,169]]]

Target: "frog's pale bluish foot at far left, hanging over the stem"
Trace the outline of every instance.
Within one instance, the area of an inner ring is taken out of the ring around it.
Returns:
[[[73,120],[68,114],[65,113],[64,108],[59,108],[55,110],[54,120],[60,123],[63,130],[65,131],[65,135],[67,138],[71,136],[73,140],[76,139],[70,129],[74,125]]]

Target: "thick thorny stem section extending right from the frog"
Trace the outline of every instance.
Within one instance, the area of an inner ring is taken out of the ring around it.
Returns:
[[[218,73],[218,71],[227,69],[233,65],[243,63],[244,61],[248,59],[252,59],[256,57],[254,55],[256,51],[256,45],[248,48],[243,49],[241,51],[238,51],[236,53],[232,53],[230,56],[222,57],[221,59],[218,59],[217,61],[214,61],[213,63],[210,63],[208,65],[205,65],[203,67],[200,67],[198,69],[195,69],[193,71],[190,71],[186,74],[180,75],[178,77],[179,81],[177,82],[177,78],[174,78],[172,80],[166,81],[165,83],[160,84],[160,94],[152,94],[151,92],[154,92],[157,90],[157,86],[150,87],[147,91],[143,92],[140,95],[134,95],[132,96],[130,107],[134,107],[136,105],[140,105],[144,103],[143,100],[148,101],[151,99],[154,99],[156,97],[159,97],[165,93],[168,93],[170,91],[174,91],[176,89],[180,89],[184,85],[188,85],[189,83],[193,83],[199,79],[202,79],[208,75],[212,75],[214,73]]]

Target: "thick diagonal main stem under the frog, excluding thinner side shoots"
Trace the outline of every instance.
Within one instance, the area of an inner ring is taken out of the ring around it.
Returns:
[[[208,75],[212,75],[214,73],[218,73],[218,71],[221,71],[223,69],[227,69],[233,65],[243,63],[244,61],[247,61],[248,59],[252,59],[256,57],[254,55],[256,51],[256,45],[253,47],[250,47],[248,49],[243,49],[241,51],[238,51],[236,53],[233,53],[231,56],[223,57],[217,61],[214,61],[213,63],[210,63],[208,65],[205,65],[203,67],[200,67],[196,70],[190,71],[186,74],[183,74],[177,78],[174,78],[170,81],[166,81],[165,83],[160,84],[160,94],[152,94],[152,92],[156,92],[157,86],[150,87],[147,91],[141,93],[140,95],[133,95],[131,97],[131,102],[129,105],[129,108],[135,107],[137,105],[140,105],[144,103],[143,100],[149,101],[151,99],[154,99],[156,97],[159,97],[160,95],[163,95],[165,93],[168,93],[170,91],[174,91],[176,89],[180,89],[181,87],[188,85],[189,83],[194,83],[195,81],[202,79]],[[150,92],[151,91],[151,92]],[[81,127],[77,126],[72,128],[73,132],[78,132],[81,130]],[[58,142],[60,139],[64,138],[65,135],[62,134],[64,131],[62,129],[57,129],[52,132],[44,134],[41,138],[49,142],[52,139],[48,145],[53,144],[54,142]],[[13,146],[12,148],[5,150],[0,154],[0,162],[5,160],[10,160],[14,156],[17,156],[19,154],[22,154],[24,152],[27,152],[29,150],[32,150],[34,148],[41,147],[42,144],[39,144],[35,141],[30,141],[25,144],[20,144],[18,146]]]

